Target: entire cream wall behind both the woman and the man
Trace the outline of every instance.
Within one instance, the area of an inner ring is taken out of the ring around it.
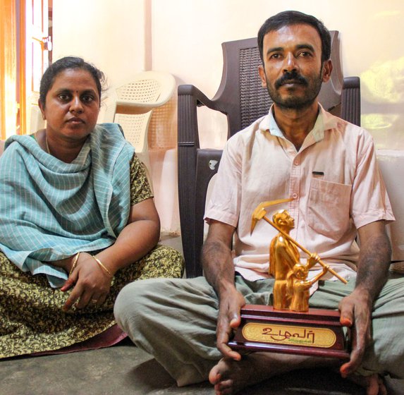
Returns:
[[[221,42],[255,37],[266,18],[287,9],[341,32],[343,73],[361,78],[362,126],[377,147],[403,150],[402,0],[54,0],[54,59],[83,56],[113,88],[144,68],[168,71],[178,84],[212,97],[221,79]],[[202,145],[221,147],[226,119],[201,109],[200,130]],[[175,231],[178,223],[165,228]]]

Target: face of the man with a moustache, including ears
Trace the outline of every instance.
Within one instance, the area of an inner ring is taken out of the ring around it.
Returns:
[[[285,109],[305,109],[329,80],[331,61],[322,64],[322,42],[310,25],[290,25],[268,32],[263,42],[262,86]]]

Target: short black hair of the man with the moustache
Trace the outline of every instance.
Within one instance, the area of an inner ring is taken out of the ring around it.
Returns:
[[[284,26],[290,25],[310,25],[319,33],[322,40],[322,63],[328,61],[331,56],[331,36],[329,30],[324,26],[321,20],[314,18],[314,16],[301,13],[299,11],[283,11],[277,13],[264,22],[258,32],[258,49],[261,56],[262,63],[264,63],[263,42],[264,35],[273,30],[279,30]]]

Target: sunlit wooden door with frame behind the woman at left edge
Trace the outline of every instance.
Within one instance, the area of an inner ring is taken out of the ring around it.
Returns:
[[[0,9],[0,138],[4,139],[32,131],[32,102],[37,104],[51,39],[48,0],[0,0]]]

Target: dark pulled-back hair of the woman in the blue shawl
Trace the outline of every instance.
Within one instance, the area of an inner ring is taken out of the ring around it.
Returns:
[[[81,68],[82,70],[88,71],[92,75],[95,85],[97,85],[99,99],[101,100],[102,84],[105,81],[104,73],[81,58],[66,56],[52,63],[44,72],[44,75],[42,75],[41,85],[39,86],[39,102],[41,102],[43,107],[45,107],[47,93],[52,85],[54,85],[56,76],[68,68]]]

